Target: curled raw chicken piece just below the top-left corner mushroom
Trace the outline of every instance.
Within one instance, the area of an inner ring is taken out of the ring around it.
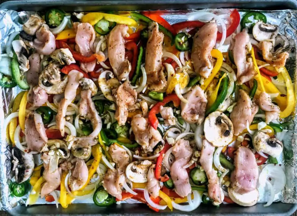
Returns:
[[[43,24],[37,30],[33,46],[37,52],[42,55],[50,55],[56,50],[56,38],[49,30],[48,25]]]

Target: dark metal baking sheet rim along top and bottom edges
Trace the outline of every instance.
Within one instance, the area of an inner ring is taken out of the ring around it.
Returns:
[[[45,5],[46,3],[46,5]],[[281,6],[283,9],[297,9],[297,0],[279,1],[279,0],[241,0],[240,3],[236,0],[212,0],[212,1],[196,1],[196,0],[146,0],[146,1],[40,1],[40,0],[30,0],[30,1],[6,1],[0,4],[0,9],[14,9],[14,10],[41,10],[45,7],[75,7],[77,10],[81,11],[91,11],[95,7],[92,6],[102,6],[104,8],[113,7],[117,5],[117,9],[130,9],[130,10],[141,10],[145,6],[148,9],[202,9],[202,8],[251,8],[251,9],[264,9],[264,7],[278,7]],[[169,5],[169,6],[168,6]],[[87,8],[87,9],[84,9]],[[97,10],[97,9],[95,9]],[[94,204],[72,204],[69,208],[63,209],[59,206],[56,209],[55,205],[34,205],[30,207],[25,207],[24,205],[19,205],[13,209],[7,211],[10,215],[23,216],[23,215],[291,215],[297,209],[297,204],[287,204],[287,203],[273,203],[269,208],[263,207],[263,204],[258,203],[253,207],[240,207],[237,205],[223,205],[220,208],[210,206],[201,206],[193,212],[179,212],[174,213],[167,211],[162,213],[151,212],[149,209],[144,207],[144,204],[135,204],[133,210],[131,211],[131,205],[121,204],[113,208],[99,208]]]

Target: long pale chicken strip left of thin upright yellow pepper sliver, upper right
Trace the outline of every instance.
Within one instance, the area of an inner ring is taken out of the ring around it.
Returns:
[[[246,60],[246,46],[249,43],[249,35],[244,29],[242,32],[236,34],[235,36],[235,45],[233,48],[234,62],[237,67],[237,80],[239,85],[244,82],[248,82],[255,75],[254,63],[252,59]]]

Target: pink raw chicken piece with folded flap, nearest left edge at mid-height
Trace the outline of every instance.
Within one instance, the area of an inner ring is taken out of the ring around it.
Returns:
[[[34,113],[30,113],[25,121],[25,135],[29,150],[40,152],[42,148],[46,145],[47,137],[43,136],[43,133],[41,136],[41,134],[38,132],[42,132],[43,130],[45,131],[42,121],[36,122]]]

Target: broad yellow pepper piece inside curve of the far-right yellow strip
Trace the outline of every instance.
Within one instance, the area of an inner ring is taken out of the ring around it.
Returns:
[[[260,82],[260,79],[263,81],[267,93],[279,93],[279,95],[274,100],[277,102],[277,105],[280,107],[281,110],[284,110],[287,107],[287,97],[281,96],[282,94],[272,82],[270,82],[266,77],[263,77],[262,75],[261,78],[259,77],[259,75],[256,75],[254,79],[257,80],[258,83]],[[261,91],[263,91],[263,89],[260,85],[258,85],[256,95],[260,95]]]

